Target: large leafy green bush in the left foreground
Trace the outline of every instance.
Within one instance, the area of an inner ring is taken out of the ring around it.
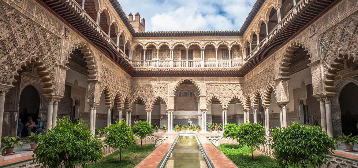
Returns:
[[[36,162],[48,168],[74,168],[100,160],[103,144],[82,123],[83,120],[72,123],[66,117],[57,119],[57,126],[40,137],[33,154],[37,156]]]

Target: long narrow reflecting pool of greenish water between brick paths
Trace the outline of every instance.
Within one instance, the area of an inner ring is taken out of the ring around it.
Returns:
[[[194,136],[180,136],[169,154],[165,168],[207,168]]]

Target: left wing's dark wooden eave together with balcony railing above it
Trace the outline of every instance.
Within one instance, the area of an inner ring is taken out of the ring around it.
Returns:
[[[92,18],[75,3],[74,0],[42,0],[49,8],[71,24],[79,33],[83,34],[89,41],[96,45],[100,50],[112,59],[117,65],[127,73],[135,72],[129,58],[117,48],[106,33],[101,30]],[[93,6],[95,8],[95,6]],[[117,50],[116,50],[117,48]]]

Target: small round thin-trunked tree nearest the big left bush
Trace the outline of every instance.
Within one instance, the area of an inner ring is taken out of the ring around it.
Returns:
[[[134,137],[131,127],[126,124],[125,119],[122,119],[122,122],[117,120],[115,124],[111,124],[105,128],[104,131],[107,132],[104,142],[112,148],[119,149],[119,161],[121,161],[121,149],[129,147],[136,142],[136,138]]]

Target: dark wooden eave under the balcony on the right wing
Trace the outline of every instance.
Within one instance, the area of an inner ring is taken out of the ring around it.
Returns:
[[[268,41],[260,50],[256,52],[251,58],[241,66],[239,76],[244,76],[255,68],[261,61],[267,56],[272,54],[286,41],[301,33],[301,30],[313,21],[318,15],[323,14],[329,6],[331,6],[337,0],[304,0],[307,3],[305,6],[301,6],[302,10],[297,15],[290,18],[285,22],[285,25],[277,31],[277,34]],[[285,18],[284,18],[285,19]],[[282,19],[282,21],[284,20]],[[280,23],[282,23],[282,21]]]

